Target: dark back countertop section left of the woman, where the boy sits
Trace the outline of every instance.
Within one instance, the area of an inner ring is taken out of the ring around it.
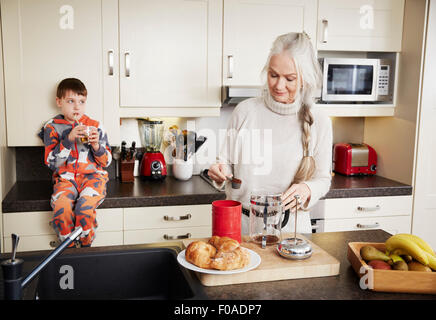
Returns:
[[[51,181],[17,182],[2,202],[3,213],[50,211],[52,192]],[[200,176],[193,176],[188,181],[173,177],[163,181],[135,178],[134,183],[113,179],[107,184],[106,199],[99,209],[210,204],[221,199],[225,199],[225,194],[215,190]]]

